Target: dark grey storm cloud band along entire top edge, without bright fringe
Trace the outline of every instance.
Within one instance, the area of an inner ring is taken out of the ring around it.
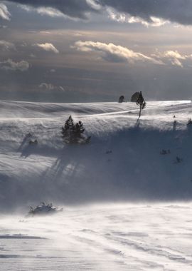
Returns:
[[[33,7],[50,7],[73,18],[86,19],[86,13],[98,11],[100,6],[111,7],[116,11],[139,17],[149,23],[151,17],[174,21],[179,24],[192,24],[191,0],[7,0]],[[99,6],[100,5],[100,6]]]

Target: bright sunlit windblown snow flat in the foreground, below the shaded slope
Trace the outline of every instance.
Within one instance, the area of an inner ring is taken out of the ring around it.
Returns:
[[[188,205],[95,205],[1,217],[0,270],[191,271]]]

